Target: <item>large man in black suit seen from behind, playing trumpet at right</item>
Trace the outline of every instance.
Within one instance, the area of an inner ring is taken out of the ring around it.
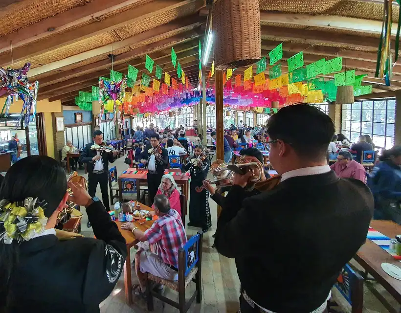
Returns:
[[[327,312],[338,273],[366,240],[373,197],[361,181],[339,179],[330,170],[334,124],[316,107],[282,108],[268,119],[267,132],[270,163],[281,182],[241,206],[229,192],[215,245],[235,258],[242,313]],[[251,175],[234,174],[231,188],[244,187]]]

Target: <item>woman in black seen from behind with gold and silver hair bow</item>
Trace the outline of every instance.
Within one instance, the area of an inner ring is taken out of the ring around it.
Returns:
[[[69,183],[59,163],[27,156],[0,190],[0,312],[99,312],[127,254],[102,202]],[[67,199],[85,206],[97,239],[59,241],[54,226]]]

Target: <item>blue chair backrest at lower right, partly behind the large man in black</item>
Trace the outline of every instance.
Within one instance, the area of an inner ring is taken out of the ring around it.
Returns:
[[[334,284],[352,306],[352,313],[362,313],[363,277],[346,264]]]

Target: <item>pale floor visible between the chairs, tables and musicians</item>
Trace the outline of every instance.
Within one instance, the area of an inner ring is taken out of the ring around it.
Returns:
[[[124,163],[124,157],[117,159],[114,164],[117,166],[117,173],[121,174],[128,165]],[[84,171],[79,172],[80,175],[86,176]],[[98,186],[96,195],[101,199],[101,192]],[[202,302],[201,304],[194,304],[188,312],[191,313],[233,313],[237,312],[238,296],[240,283],[237,276],[234,260],[228,259],[219,253],[216,249],[212,248],[213,238],[212,235],[216,230],[217,224],[217,205],[213,200],[209,200],[210,210],[212,214],[212,229],[205,233],[203,236],[203,259],[202,259]],[[86,227],[87,216],[85,211],[82,220],[82,234],[84,236],[93,236],[91,228]],[[187,227],[187,234],[195,234],[199,229],[195,227]],[[134,248],[131,249],[132,260],[134,259]],[[137,283],[137,278],[133,270],[133,283]],[[193,284],[192,284],[193,285]],[[371,283],[370,288],[375,288],[393,305],[393,307],[400,308],[400,305],[388,294],[384,289],[376,283]],[[195,290],[194,286],[190,285],[187,291],[187,298]],[[164,290],[163,294],[171,297],[173,300],[178,301],[178,294],[175,291]],[[342,300],[341,295],[333,289],[333,297],[341,306],[342,312],[351,312],[350,306]],[[168,304],[155,299],[156,313],[170,313],[178,312],[177,309]],[[101,313],[142,313],[147,312],[146,303],[142,299],[134,297],[134,304],[128,306],[125,303],[124,293],[124,280],[121,275],[117,285],[107,299],[100,304]],[[387,313],[391,312],[377,300],[373,293],[364,288],[364,313]],[[396,311],[395,311],[396,312]]]

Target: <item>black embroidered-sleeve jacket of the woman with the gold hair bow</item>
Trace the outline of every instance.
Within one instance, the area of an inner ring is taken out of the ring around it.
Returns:
[[[127,247],[100,201],[86,211],[97,239],[59,241],[49,234],[20,245],[7,312],[100,312],[120,277]]]

